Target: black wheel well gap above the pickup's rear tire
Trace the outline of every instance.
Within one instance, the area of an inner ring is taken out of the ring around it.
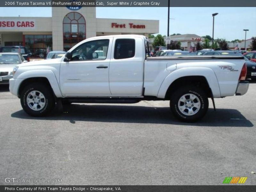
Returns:
[[[203,88],[208,98],[212,96],[212,90],[204,76],[184,76],[176,79],[172,82],[172,84],[170,84],[165,94],[165,99],[169,100],[173,92],[175,92],[181,86],[189,84]]]

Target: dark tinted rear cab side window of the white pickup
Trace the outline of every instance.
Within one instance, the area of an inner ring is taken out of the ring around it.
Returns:
[[[126,59],[135,55],[135,39],[116,39],[114,59]]]

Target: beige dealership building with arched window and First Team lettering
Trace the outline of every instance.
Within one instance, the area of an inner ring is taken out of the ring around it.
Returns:
[[[158,32],[159,20],[96,18],[95,7],[52,7],[52,17],[0,17],[1,45],[21,44],[31,53],[67,51],[94,36]]]

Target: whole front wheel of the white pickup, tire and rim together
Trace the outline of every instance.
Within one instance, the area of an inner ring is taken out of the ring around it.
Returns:
[[[20,95],[20,103],[31,116],[46,116],[54,108],[55,100],[49,86],[40,83],[27,85]]]

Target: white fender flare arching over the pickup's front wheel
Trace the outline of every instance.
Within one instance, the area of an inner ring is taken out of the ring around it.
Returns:
[[[58,80],[55,76],[55,74],[51,70],[47,69],[36,69],[36,70],[29,70],[21,73],[19,76],[17,76],[17,79],[23,79],[26,80],[28,78],[36,78],[36,77],[45,77],[48,79],[52,90],[56,97],[62,97],[60,86],[58,84]],[[21,81],[20,84],[23,82]],[[19,85],[20,88],[20,85]],[[19,89],[18,89],[19,90]]]

